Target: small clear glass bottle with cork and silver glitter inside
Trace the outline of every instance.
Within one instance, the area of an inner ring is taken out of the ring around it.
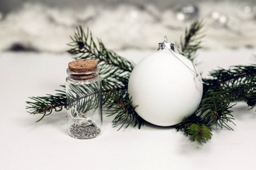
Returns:
[[[94,59],[68,64],[66,79],[68,133],[73,138],[95,138],[102,132],[100,69]]]

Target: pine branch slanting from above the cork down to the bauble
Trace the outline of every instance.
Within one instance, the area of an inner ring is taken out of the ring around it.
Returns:
[[[100,75],[105,79],[102,83],[104,89],[127,87],[134,63],[106,49],[101,40],[98,39],[96,43],[89,29],[85,33],[81,26],[77,27],[71,39],[72,42],[68,45],[72,46],[72,49],[68,52],[78,55],[75,59],[91,58],[98,61]]]

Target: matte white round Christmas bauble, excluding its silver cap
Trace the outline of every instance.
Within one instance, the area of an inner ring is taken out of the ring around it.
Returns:
[[[203,84],[185,66],[194,69],[192,62],[172,53],[160,49],[145,57],[129,78],[128,92],[135,111],[159,126],[179,124],[196,111],[203,95]]]

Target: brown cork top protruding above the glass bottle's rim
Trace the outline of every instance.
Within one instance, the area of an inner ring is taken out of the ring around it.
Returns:
[[[75,73],[88,73],[97,69],[98,62],[94,59],[77,59],[69,62],[69,70]]]

